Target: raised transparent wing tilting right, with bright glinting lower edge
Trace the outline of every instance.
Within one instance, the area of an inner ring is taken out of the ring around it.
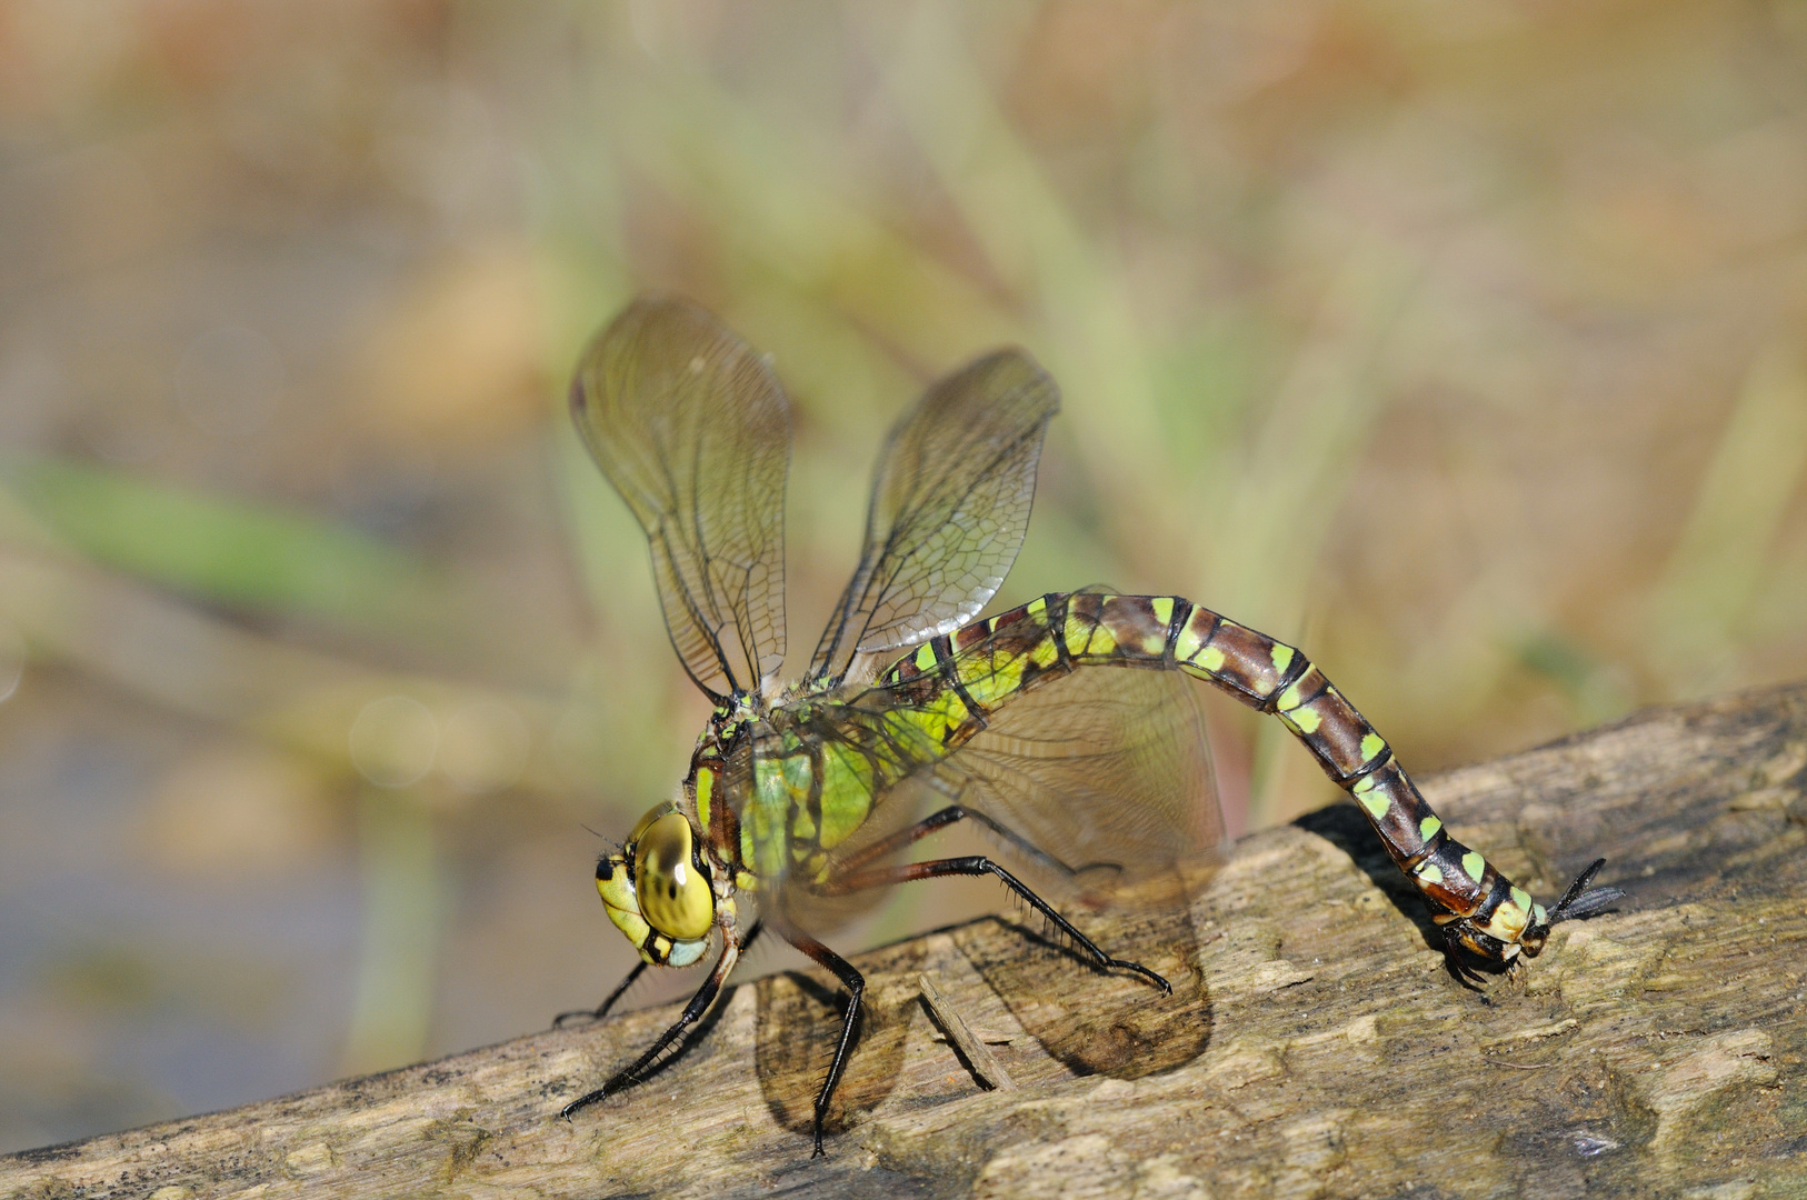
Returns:
[[[810,678],[838,680],[855,654],[978,616],[1023,548],[1043,432],[1059,407],[1053,380],[1028,354],[997,351],[904,414],[878,459],[860,566]]]

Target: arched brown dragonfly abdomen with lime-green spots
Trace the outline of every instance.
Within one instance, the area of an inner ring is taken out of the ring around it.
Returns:
[[[1279,717],[1355,799],[1440,925],[1464,922],[1516,952],[1527,927],[1545,923],[1541,905],[1449,837],[1386,739],[1305,654],[1180,596],[1050,593],[932,638],[880,685],[914,692],[916,712],[958,745],[1014,696],[1108,665],[1184,670]]]

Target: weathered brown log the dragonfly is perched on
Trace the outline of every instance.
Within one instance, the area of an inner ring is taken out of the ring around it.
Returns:
[[[1176,945],[1151,960],[1191,980],[1171,1001],[996,920],[857,960],[873,1019],[822,1160],[828,985],[777,976],[571,1122],[558,1106],[672,1008],[0,1158],[0,1195],[1807,1196],[1807,685],[1424,790],[1545,900],[1594,855],[1630,896],[1465,990],[1337,806],[1243,840],[1191,936],[1090,922]],[[936,1039],[923,970],[1012,1037],[992,1050],[1016,1090]]]

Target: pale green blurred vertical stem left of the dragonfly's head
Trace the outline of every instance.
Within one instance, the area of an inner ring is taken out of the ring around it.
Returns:
[[[340,1070],[416,1063],[434,1016],[445,886],[434,826],[414,792],[365,788],[358,799],[363,951]]]

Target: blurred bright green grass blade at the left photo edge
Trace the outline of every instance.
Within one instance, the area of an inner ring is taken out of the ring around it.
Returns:
[[[379,627],[445,605],[414,555],[305,513],[56,459],[0,479],[78,553],[202,600]]]

